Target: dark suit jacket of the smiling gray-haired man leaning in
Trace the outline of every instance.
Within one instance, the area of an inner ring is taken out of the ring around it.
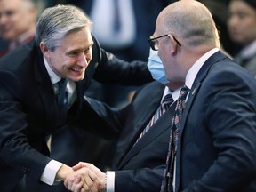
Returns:
[[[0,59],[1,191],[12,191],[23,174],[27,175],[28,180],[34,180],[31,182],[38,182],[45,165],[51,160],[48,157],[45,136],[54,135],[54,132],[60,132],[67,126],[79,124],[79,121],[85,118],[80,116],[83,114],[84,92],[97,67],[103,69],[103,71],[97,69],[99,75],[109,73],[109,83],[111,79],[115,82],[120,77],[126,79],[120,82],[127,83],[129,77],[141,76],[141,71],[146,71],[146,79],[148,78],[149,72],[145,63],[133,62],[129,65],[116,60],[113,55],[101,50],[95,39],[94,42],[93,58],[86,69],[84,80],[76,83],[76,102],[68,111],[67,124],[60,127],[57,126],[56,121],[58,108],[52,83],[44,67],[43,55],[34,41]],[[111,71],[112,67],[113,71]],[[116,74],[117,71],[120,71],[122,76]],[[140,79],[130,79],[140,82]],[[101,131],[103,136],[109,133],[111,139],[116,139],[119,135],[118,130]],[[72,150],[72,148],[65,148],[63,153],[66,150]]]

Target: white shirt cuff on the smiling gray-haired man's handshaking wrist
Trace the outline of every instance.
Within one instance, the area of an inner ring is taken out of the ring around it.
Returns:
[[[44,168],[40,180],[48,185],[55,184],[55,177],[63,164],[55,160],[51,160]]]

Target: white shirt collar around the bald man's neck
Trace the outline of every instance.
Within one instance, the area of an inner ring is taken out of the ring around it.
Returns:
[[[213,48],[209,52],[206,52],[199,60],[196,60],[194,65],[188,70],[185,84],[188,86],[189,89],[191,89],[192,84],[196,79],[196,75],[199,72],[200,68],[202,68],[202,66],[204,65],[204,62],[208,60],[212,56],[212,54],[218,52],[219,50],[219,48]]]

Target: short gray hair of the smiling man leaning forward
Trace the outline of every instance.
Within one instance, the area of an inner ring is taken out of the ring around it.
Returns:
[[[69,32],[91,26],[91,20],[76,6],[59,4],[46,8],[36,25],[36,44],[43,42],[54,51]]]

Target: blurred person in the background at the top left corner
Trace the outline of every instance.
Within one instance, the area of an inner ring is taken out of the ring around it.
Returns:
[[[0,57],[35,36],[37,11],[32,0],[0,0]]]

